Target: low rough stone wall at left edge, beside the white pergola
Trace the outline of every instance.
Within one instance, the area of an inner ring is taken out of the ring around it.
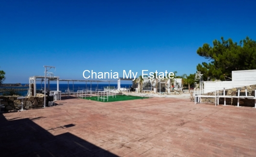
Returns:
[[[5,106],[6,110],[19,110],[21,107],[21,100],[17,100],[20,96],[0,96],[1,104]],[[46,102],[48,96],[46,96]],[[48,104],[48,103],[46,103]],[[44,106],[44,94],[37,94],[36,96],[27,96],[23,99],[23,109],[40,108]]]

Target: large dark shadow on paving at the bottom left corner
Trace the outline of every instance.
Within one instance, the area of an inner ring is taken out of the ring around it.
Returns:
[[[29,118],[7,121],[0,113],[0,124],[1,157],[117,157],[69,132],[54,136]]]

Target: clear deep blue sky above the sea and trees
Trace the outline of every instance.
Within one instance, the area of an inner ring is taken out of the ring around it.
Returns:
[[[61,79],[84,70],[196,72],[196,50],[214,39],[256,40],[253,0],[2,0],[4,83],[28,83],[55,66]]]

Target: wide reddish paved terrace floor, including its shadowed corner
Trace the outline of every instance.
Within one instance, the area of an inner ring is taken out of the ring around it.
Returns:
[[[256,157],[256,109],[79,98],[0,114],[1,157]]]

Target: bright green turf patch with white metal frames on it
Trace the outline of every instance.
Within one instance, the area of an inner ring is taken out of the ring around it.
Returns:
[[[105,98],[107,98],[107,97],[105,96]],[[115,102],[115,101],[137,100],[137,99],[145,99],[145,98],[148,98],[148,97],[131,96],[131,95],[116,95],[116,98],[115,98],[115,96],[114,96],[114,98],[112,96],[109,96],[108,100],[105,99],[105,101],[104,101],[103,99],[99,98],[99,101],[100,102]],[[97,96],[86,97],[86,98],[83,97],[83,99],[98,101]]]

